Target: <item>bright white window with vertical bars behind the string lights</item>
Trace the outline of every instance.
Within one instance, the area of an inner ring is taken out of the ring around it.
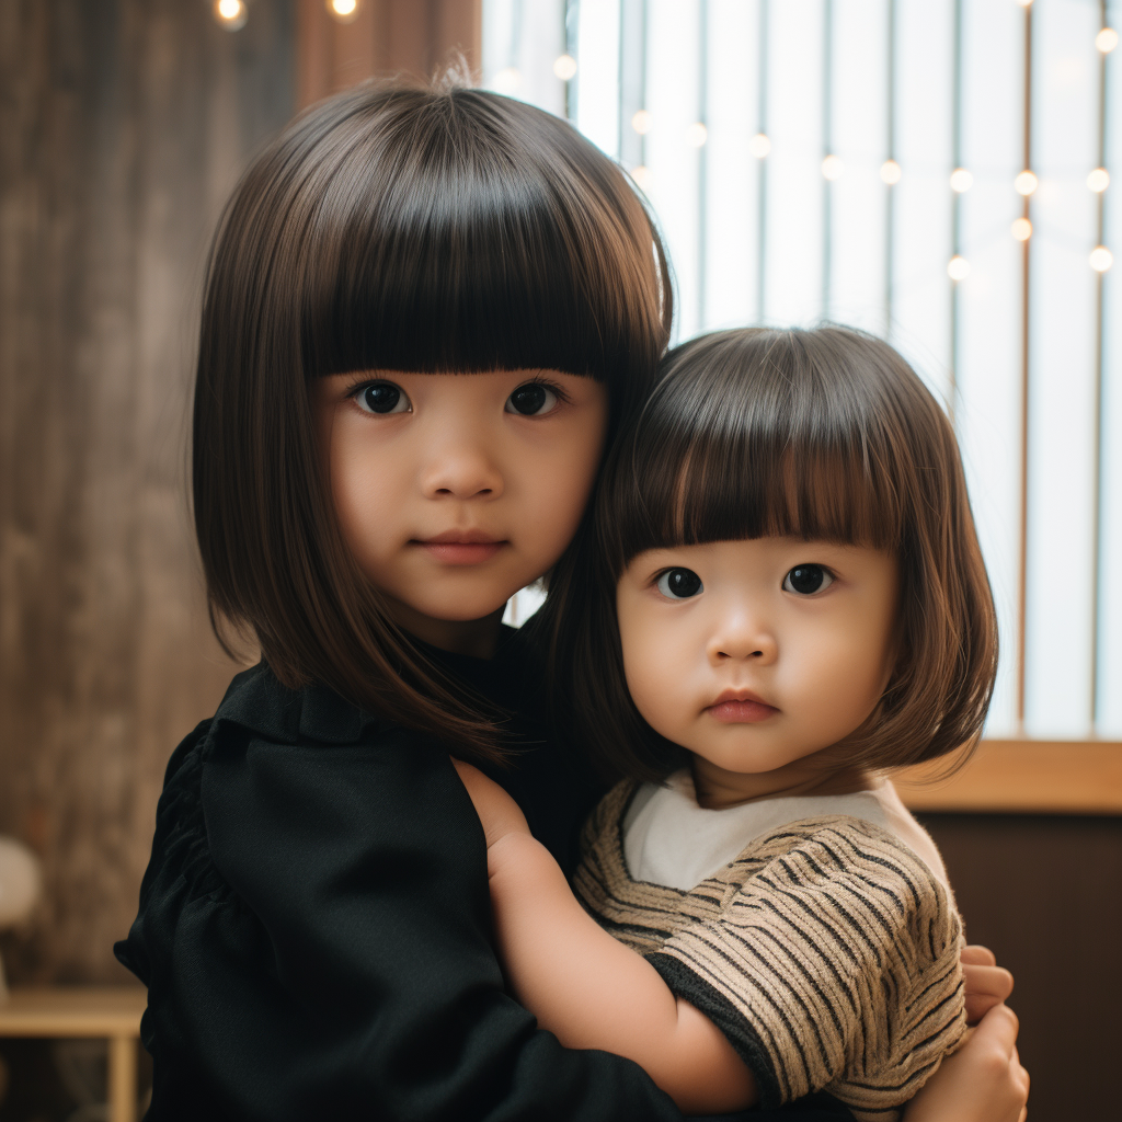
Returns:
[[[486,84],[570,117],[650,199],[677,340],[849,323],[946,403],[1001,620],[990,736],[1122,738],[1111,15],[1100,0],[484,3]]]

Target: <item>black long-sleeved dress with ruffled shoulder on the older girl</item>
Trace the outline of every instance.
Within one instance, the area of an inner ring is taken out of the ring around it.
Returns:
[[[440,657],[511,706],[518,646]],[[517,767],[490,774],[571,867],[596,783],[532,720],[518,732]],[[562,1048],[507,995],[482,829],[447,751],[264,664],[172,756],[116,950],[148,986],[149,1122],[681,1119],[635,1064]]]

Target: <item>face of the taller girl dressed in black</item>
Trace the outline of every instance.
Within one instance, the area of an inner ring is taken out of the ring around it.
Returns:
[[[497,616],[576,533],[606,387],[557,370],[319,379],[312,404],[343,535],[397,623],[487,653]]]

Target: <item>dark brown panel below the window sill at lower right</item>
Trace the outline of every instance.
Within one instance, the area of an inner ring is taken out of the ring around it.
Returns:
[[[972,942],[1017,978],[1032,1122],[1119,1118],[1122,818],[925,815]]]

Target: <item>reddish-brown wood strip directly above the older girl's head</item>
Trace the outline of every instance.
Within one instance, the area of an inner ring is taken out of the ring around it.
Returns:
[[[472,75],[482,66],[482,0],[359,0],[349,22],[325,0],[298,0],[297,109],[369,77],[426,80],[461,54]]]

